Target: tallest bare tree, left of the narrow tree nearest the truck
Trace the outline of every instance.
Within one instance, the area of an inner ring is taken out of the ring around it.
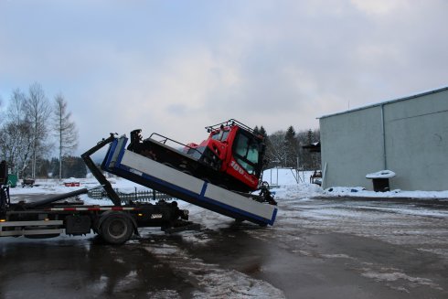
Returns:
[[[45,155],[48,144],[48,117],[51,113],[48,100],[42,86],[34,83],[29,87],[29,94],[26,101],[26,111],[29,122],[32,126],[32,164],[31,176],[36,177],[37,158]]]

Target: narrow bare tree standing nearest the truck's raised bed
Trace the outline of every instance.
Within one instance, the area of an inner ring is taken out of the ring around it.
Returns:
[[[69,155],[78,147],[78,130],[70,120],[71,112],[67,111],[67,101],[59,93],[55,97],[54,132],[59,145],[59,179],[62,177],[62,157]]]

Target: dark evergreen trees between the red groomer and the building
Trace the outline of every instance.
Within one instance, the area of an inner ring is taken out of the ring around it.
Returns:
[[[295,132],[292,125],[286,130],[272,134],[266,133],[261,125],[254,128],[255,133],[264,137],[266,144],[265,168],[293,167],[301,170],[316,170],[321,168],[320,153],[312,153],[304,149],[304,145],[315,144],[320,140],[319,129]]]

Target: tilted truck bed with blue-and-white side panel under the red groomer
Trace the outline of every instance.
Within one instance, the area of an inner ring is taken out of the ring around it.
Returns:
[[[115,138],[102,162],[104,171],[150,187],[201,208],[261,226],[272,225],[277,208],[243,197],[195,176],[126,150],[126,137]]]

